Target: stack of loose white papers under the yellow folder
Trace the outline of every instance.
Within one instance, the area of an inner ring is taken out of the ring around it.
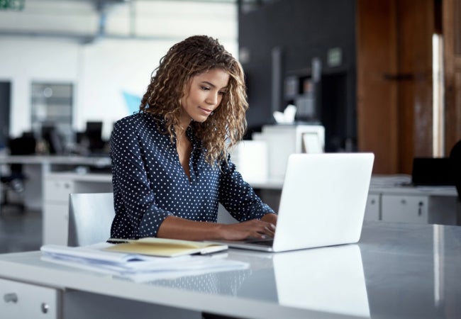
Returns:
[[[154,257],[107,250],[114,245],[100,243],[87,247],[44,245],[42,260],[87,269],[133,281],[172,279],[208,272],[223,272],[248,268],[245,262],[226,259],[227,254]]]

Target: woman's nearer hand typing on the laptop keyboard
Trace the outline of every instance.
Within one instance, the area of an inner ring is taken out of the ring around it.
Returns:
[[[275,225],[263,220],[252,219],[242,223],[221,224],[219,239],[243,240],[245,238],[266,239],[274,237]]]

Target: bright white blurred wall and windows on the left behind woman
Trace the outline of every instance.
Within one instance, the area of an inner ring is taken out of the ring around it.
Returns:
[[[94,135],[98,124],[107,140],[113,122],[137,111],[151,72],[172,44],[208,34],[237,53],[235,1],[0,1],[5,3],[3,143],[23,132],[40,138],[53,127],[65,143],[81,142],[78,133]]]

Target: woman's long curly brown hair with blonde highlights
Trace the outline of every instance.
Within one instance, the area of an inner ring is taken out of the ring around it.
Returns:
[[[173,142],[187,85],[193,77],[211,69],[222,69],[229,74],[227,92],[213,115],[203,123],[191,122],[191,125],[206,150],[206,162],[213,165],[226,161],[228,150],[243,138],[248,109],[243,69],[218,40],[194,35],[173,45],[152,72],[140,111],[162,116]]]

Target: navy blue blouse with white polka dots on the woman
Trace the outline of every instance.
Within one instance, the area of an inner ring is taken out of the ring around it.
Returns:
[[[240,221],[274,213],[230,160],[221,163],[221,169],[205,162],[191,127],[187,128],[192,144],[189,179],[176,145],[161,132],[166,132],[162,119],[148,113],[135,113],[113,126],[110,155],[116,216],[111,237],[155,237],[167,216],[216,223],[218,203]]]

